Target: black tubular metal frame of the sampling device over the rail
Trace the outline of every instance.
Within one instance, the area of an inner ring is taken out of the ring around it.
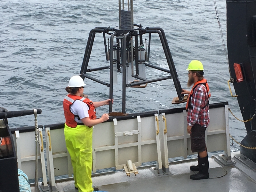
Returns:
[[[111,33],[112,32],[112,33]],[[109,60],[110,60],[110,65],[109,66],[104,66],[104,67],[99,67],[99,68],[93,68],[93,69],[88,69],[88,63],[89,63],[89,59],[90,59],[90,55],[91,55],[91,51],[92,51],[92,45],[94,42],[94,38],[95,38],[95,34],[96,33],[103,33],[103,38],[104,38],[104,45],[105,45],[105,53],[106,53],[106,60],[108,60],[108,51],[109,51]],[[164,54],[168,63],[168,67],[170,70],[168,69],[164,69],[161,67],[157,67],[154,65],[151,65],[149,63],[145,63],[145,65],[147,67],[151,67],[151,68],[155,68],[157,70],[161,70],[164,71],[168,74],[170,74],[169,76],[166,77],[160,77],[160,78],[156,78],[156,79],[145,79],[139,76],[139,60],[138,60],[138,48],[140,47],[140,45],[143,44],[143,38],[142,35],[149,33],[149,39],[148,39],[148,60],[149,60],[149,55],[150,55],[150,43],[151,43],[151,34],[152,33],[156,33],[159,35],[159,38],[161,40],[161,44],[163,46],[164,49]],[[110,49],[107,50],[107,43],[106,43],[106,34],[110,35]],[[123,84],[122,84],[122,112],[125,113],[125,95],[126,95],[126,87],[132,87],[135,85],[141,85],[141,84],[147,84],[147,83],[152,83],[152,82],[157,82],[157,81],[162,81],[162,80],[166,80],[166,79],[173,79],[173,83],[175,85],[175,89],[177,92],[177,95],[179,97],[179,100],[183,100],[184,95],[181,94],[182,89],[181,89],[181,85],[180,85],[180,81],[178,78],[178,74],[177,71],[175,69],[175,65],[174,62],[172,60],[172,54],[170,51],[170,48],[168,46],[167,43],[167,39],[166,36],[164,34],[164,30],[162,28],[142,28],[141,24],[137,24],[134,25],[133,29],[120,29],[120,28],[110,28],[110,27],[96,27],[94,29],[92,29],[89,33],[89,37],[88,37],[88,41],[87,41],[87,45],[86,45],[86,49],[85,49],[85,53],[84,53],[84,59],[83,59],[83,63],[81,66],[81,70],[80,70],[80,75],[81,77],[84,78],[88,78],[91,79],[95,82],[98,82],[100,84],[106,85],[107,87],[109,87],[109,99],[113,99],[113,54],[114,54],[114,46],[116,46],[117,48],[117,66],[118,66],[118,71],[120,72],[120,67],[127,67],[126,63],[127,63],[127,48],[129,46],[129,40],[131,39],[131,37],[134,36],[135,38],[135,76],[133,75],[132,77],[140,79],[142,81],[140,82],[136,82],[136,83],[130,83],[130,84],[126,84],[126,70],[123,70]],[[138,36],[140,37],[140,45],[138,44]],[[116,44],[114,45],[114,37],[116,37]],[[127,44],[128,43],[128,44]],[[121,61],[119,60],[119,54],[121,54]],[[102,69],[110,69],[110,73],[109,73],[109,83],[103,82],[99,79],[96,79],[92,76],[87,75],[87,72],[92,72],[92,71],[98,71],[98,70],[102,70]],[[112,112],[112,103],[110,102],[109,104],[109,112]]]

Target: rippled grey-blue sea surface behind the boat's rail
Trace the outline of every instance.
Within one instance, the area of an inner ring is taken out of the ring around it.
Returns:
[[[134,23],[142,27],[164,29],[175,67],[183,88],[187,88],[186,68],[191,60],[200,60],[211,88],[210,103],[228,101],[240,118],[236,98],[230,96],[228,65],[212,0],[134,0]],[[226,43],[226,2],[217,0]],[[1,105],[12,110],[41,108],[38,124],[65,121],[62,101],[69,78],[80,72],[89,31],[95,27],[116,27],[118,0],[1,1],[0,0],[0,71]],[[107,36],[108,37],[108,36]],[[143,36],[148,39],[148,35]],[[157,35],[152,35],[150,64],[168,68]],[[102,34],[96,34],[88,68],[108,65]],[[109,71],[93,72],[108,81]],[[146,69],[154,78],[163,73]],[[122,110],[121,74],[114,87],[114,111]],[[108,99],[109,89],[85,79],[85,93],[93,101]],[[172,80],[150,83],[144,89],[127,88],[128,113],[184,107],[172,105],[177,93]],[[108,106],[97,110],[98,116]],[[230,133],[241,141],[244,124],[229,116]],[[10,127],[34,125],[34,116],[9,120]],[[239,146],[231,146],[233,151]]]

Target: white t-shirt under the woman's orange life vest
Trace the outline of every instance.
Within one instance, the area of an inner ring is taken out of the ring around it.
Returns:
[[[88,105],[80,100],[75,100],[74,103],[70,106],[70,111],[74,115],[78,115],[80,118],[80,120],[78,120],[78,117],[75,117],[75,121],[78,123],[83,123],[81,119],[83,119],[84,117],[89,117],[88,110]]]

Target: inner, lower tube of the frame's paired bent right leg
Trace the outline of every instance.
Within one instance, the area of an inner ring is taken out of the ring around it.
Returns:
[[[162,35],[162,32],[158,29],[147,29],[145,31],[146,33],[157,33],[160,37],[160,40],[161,40],[161,43],[162,43],[162,46],[163,46],[163,49],[164,49],[164,54],[165,54],[165,57],[166,57],[166,60],[167,60],[167,63],[168,63],[168,66],[170,68],[170,71],[171,71],[171,74],[173,76],[173,83],[174,83],[174,86],[175,86],[175,89],[176,89],[176,92],[177,92],[177,95],[179,97],[179,100],[183,100],[182,97],[184,96],[183,94],[181,94],[182,92],[182,89],[181,89],[181,86],[180,86],[180,81],[179,79],[177,78],[178,76],[175,75],[174,73],[174,69],[172,68],[172,63],[171,63],[171,60],[170,60],[170,57],[169,57],[169,54],[168,54],[168,51],[167,51],[167,47],[165,45],[165,42],[164,42],[164,38],[163,38],[163,35]],[[176,71],[176,70],[175,70]]]

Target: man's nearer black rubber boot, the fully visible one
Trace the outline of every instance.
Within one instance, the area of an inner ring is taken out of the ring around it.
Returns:
[[[209,178],[208,156],[203,158],[198,157],[198,164],[199,164],[199,172],[194,175],[190,175],[190,179],[192,180],[208,179]]]

